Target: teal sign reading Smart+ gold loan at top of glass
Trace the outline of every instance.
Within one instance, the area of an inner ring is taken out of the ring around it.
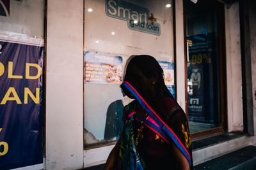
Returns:
[[[159,36],[160,24],[148,20],[149,10],[122,0],[106,0],[106,14],[109,17],[127,20],[129,29]]]

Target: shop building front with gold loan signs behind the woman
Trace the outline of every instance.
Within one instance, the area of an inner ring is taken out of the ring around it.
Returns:
[[[0,4],[5,169],[102,167],[131,102],[119,87],[124,67],[137,54],[158,60],[186,112],[194,166],[256,146],[254,1]]]

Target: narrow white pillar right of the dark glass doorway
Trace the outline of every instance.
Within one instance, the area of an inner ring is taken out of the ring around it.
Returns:
[[[228,131],[243,131],[239,3],[225,7]]]

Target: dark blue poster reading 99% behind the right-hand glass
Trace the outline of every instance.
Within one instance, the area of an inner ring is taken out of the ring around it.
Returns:
[[[214,34],[189,36],[189,121],[214,123]]]

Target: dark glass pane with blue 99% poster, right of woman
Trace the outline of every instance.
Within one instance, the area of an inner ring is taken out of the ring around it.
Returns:
[[[195,133],[221,122],[217,12],[202,1],[186,0],[186,26],[189,129]]]

